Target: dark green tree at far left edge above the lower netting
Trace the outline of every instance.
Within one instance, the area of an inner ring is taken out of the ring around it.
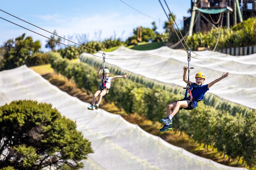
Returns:
[[[32,37],[26,37],[23,34],[17,37],[15,41],[8,40],[4,45],[3,61],[0,70],[13,69],[26,64],[26,60],[37,54],[41,48],[39,41],[33,42]]]

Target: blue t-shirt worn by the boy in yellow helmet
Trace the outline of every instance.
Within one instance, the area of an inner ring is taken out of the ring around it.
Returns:
[[[193,85],[196,85],[196,83],[194,83]],[[190,90],[194,99],[203,100],[204,95],[206,91],[209,90],[209,88],[207,84],[207,85],[201,85],[200,87],[191,86]],[[188,97],[190,98],[190,96]],[[196,106],[197,106],[197,101],[193,100],[193,108],[195,108]]]

